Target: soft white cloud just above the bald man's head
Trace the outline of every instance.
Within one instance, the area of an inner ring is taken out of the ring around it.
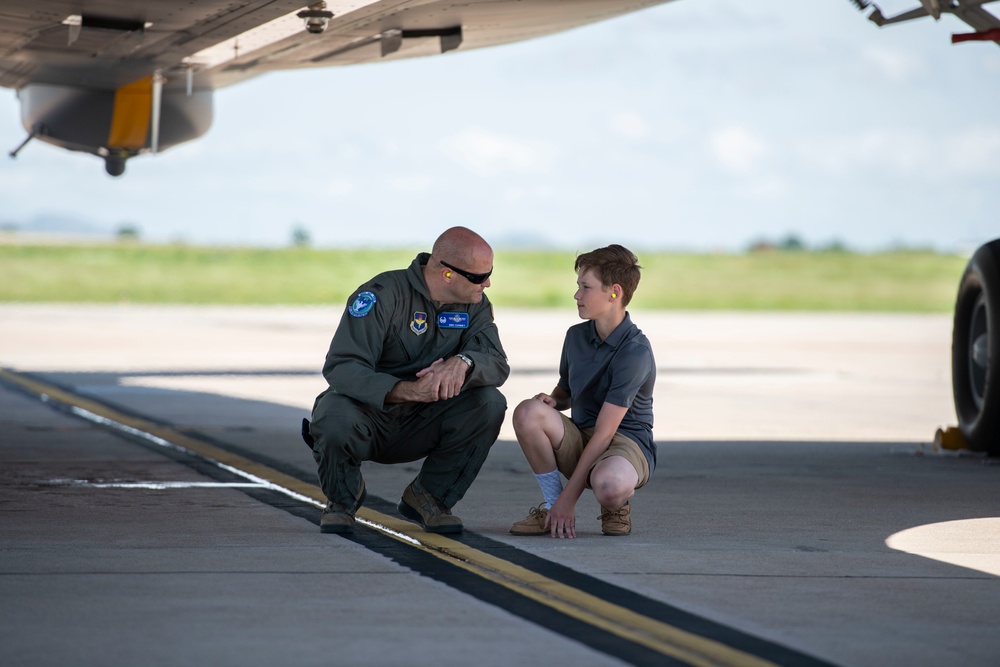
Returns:
[[[479,174],[544,173],[556,159],[553,144],[514,139],[483,130],[466,130],[444,142],[444,152]]]

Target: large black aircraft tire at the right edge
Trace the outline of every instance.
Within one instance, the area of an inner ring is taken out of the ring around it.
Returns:
[[[966,444],[1000,456],[1000,239],[976,250],[962,275],[952,329],[951,384]]]

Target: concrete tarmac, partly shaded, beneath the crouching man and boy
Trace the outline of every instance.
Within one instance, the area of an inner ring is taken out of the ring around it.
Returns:
[[[602,536],[587,493],[577,539],[509,535],[540,493],[508,411],[461,544],[742,652],[601,643],[600,619],[554,622],[372,528],[322,535],[315,505],[58,400],[314,483],[298,427],[339,308],[2,305],[3,664],[1000,664],[1000,466],[932,443],[950,317],[632,315],[660,446],[633,534]],[[512,409],[578,320],[497,318]],[[366,464],[366,507],[392,515],[416,470]]]

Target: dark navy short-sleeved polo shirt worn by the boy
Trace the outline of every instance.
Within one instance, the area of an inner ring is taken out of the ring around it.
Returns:
[[[559,360],[559,387],[573,401],[570,419],[580,428],[593,428],[604,403],[628,408],[618,432],[639,445],[650,472],[656,465],[655,382],[653,348],[628,313],[604,341],[589,320],[566,332]]]

